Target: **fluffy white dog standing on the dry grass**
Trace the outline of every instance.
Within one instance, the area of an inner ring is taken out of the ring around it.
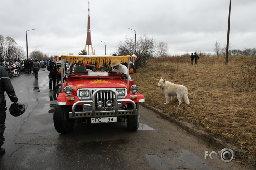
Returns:
[[[166,81],[165,79],[163,80],[162,78],[159,80],[156,87],[160,87],[160,89],[162,89],[162,92],[165,95],[166,103],[164,103],[164,104],[170,103],[172,101],[172,96],[177,95],[177,99],[179,101],[179,106],[181,104],[182,98],[183,98],[184,102],[189,105],[187,87],[185,87],[183,85],[171,83],[169,81]]]

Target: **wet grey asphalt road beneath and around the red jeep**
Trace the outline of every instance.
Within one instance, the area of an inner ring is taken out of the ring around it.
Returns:
[[[204,159],[204,151],[219,150],[142,106],[136,132],[125,123],[76,123],[72,133],[59,134],[53,124],[56,95],[49,91],[47,75],[44,68],[38,81],[34,74],[11,78],[18,102],[27,102],[28,108],[20,117],[7,110],[1,170],[252,169]]]

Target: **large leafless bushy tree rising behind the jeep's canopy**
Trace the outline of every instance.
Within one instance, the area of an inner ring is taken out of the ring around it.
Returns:
[[[136,41],[136,62],[134,64],[134,71],[140,66],[146,65],[146,61],[154,57],[156,52],[156,45],[154,37],[148,37],[145,33],[141,35]],[[134,53],[134,38],[125,38],[125,41],[120,41],[116,47],[117,55],[132,55]]]

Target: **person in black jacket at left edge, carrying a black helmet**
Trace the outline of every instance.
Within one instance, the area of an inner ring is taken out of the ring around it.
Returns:
[[[7,93],[10,100],[18,104],[18,98],[15,94],[15,91],[13,89],[13,85],[11,84],[10,77],[8,76],[8,73],[6,72],[6,69],[3,66],[0,66],[0,155],[5,152],[4,148],[1,148],[1,146],[4,144],[4,130],[5,130],[5,97],[4,92]]]

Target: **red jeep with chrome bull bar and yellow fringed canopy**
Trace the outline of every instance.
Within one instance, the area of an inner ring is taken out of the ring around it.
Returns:
[[[53,114],[54,127],[59,133],[70,133],[75,120],[82,123],[125,122],[129,130],[139,127],[139,102],[144,102],[142,94],[137,93],[134,79],[124,73],[113,72],[110,63],[119,60],[130,64],[132,56],[61,55],[62,70],[65,62],[82,63],[62,82],[62,92],[57,97]],[[105,67],[104,67],[105,65]]]

